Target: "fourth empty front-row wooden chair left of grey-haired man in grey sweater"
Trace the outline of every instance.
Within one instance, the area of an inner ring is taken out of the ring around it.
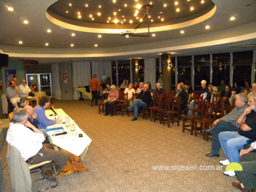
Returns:
[[[153,110],[154,122],[156,122],[156,120],[159,119],[160,124],[163,121],[163,116],[162,116],[163,112],[166,110],[171,110],[171,99],[172,99],[172,97],[168,94],[168,92],[164,92],[162,95],[163,95],[163,98],[162,98],[160,108]]]

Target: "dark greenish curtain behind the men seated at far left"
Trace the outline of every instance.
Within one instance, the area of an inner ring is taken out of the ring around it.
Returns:
[[[25,71],[23,68],[22,61],[9,61],[7,68],[1,68],[1,76],[2,76],[2,83],[4,88],[4,93],[6,93],[6,74],[5,70],[16,70],[17,74],[17,86],[21,85],[21,80],[26,80]]]

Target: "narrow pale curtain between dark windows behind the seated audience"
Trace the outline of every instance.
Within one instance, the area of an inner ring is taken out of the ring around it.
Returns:
[[[151,88],[156,88],[156,59],[149,58],[144,60],[144,83],[151,83]]]

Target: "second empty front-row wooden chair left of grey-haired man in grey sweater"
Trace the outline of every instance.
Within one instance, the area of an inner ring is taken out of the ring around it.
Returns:
[[[195,95],[196,96],[196,95]],[[185,130],[188,130],[191,132],[191,135],[193,135],[193,124],[195,119],[202,119],[203,118],[203,110],[205,108],[205,100],[203,100],[203,97],[194,97],[194,102],[193,102],[193,109],[192,110],[192,115],[188,115],[183,117],[183,124],[182,124],[182,132],[185,132]],[[196,116],[196,112],[198,113],[198,116]],[[187,120],[191,121],[191,124],[185,124]],[[191,127],[186,128],[186,127]]]

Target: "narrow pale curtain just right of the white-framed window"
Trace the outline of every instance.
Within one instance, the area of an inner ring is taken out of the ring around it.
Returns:
[[[51,65],[51,78],[52,78],[52,97],[56,100],[61,100],[60,93],[60,78],[59,78],[58,63]]]

